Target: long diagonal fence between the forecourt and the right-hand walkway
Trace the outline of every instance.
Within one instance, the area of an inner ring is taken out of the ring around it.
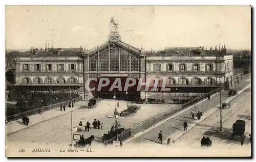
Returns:
[[[222,85],[221,89],[223,89],[223,87],[224,86]],[[173,115],[179,113],[180,111],[186,109],[187,107],[189,107],[191,105],[194,105],[197,102],[205,99],[209,94],[213,95],[215,93],[218,93],[219,91],[220,91],[219,88],[215,89],[214,91],[206,93],[206,94],[204,94],[204,95],[202,95],[202,96],[200,96],[200,97],[198,97],[198,98],[196,98],[194,100],[191,100],[191,101],[189,101],[189,102],[187,102],[185,104],[182,104],[182,105],[176,107],[173,110],[168,110],[168,111],[160,113],[160,114],[158,114],[158,115],[156,115],[154,117],[148,118],[148,119],[144,120],[143,122],[141,122],[141,123],[139,123],[139,124],[129,128],[129,129],[126,129],[126,131],[124,133],[118,135],[118,140],[120,140],[120,141],[127,140],[127,139],[133,137],[135,134],[137,134],[137,133],[139,133],[139,132],[141,132],[141,131],[143,131],[143,130],[151,127],[151,126],[153,126],[154,124],[156,124],[156,123],[158,123],[158,122],[160,122],[160,121],[162,121],[162,120],[164,120],[164,119],[166,119],[166,118],[168,118],[170,116],[173,116]],[[113,143],[114,140],[116,140],[116,137],[112,138],[112,139],[110,139],[108,141],[104,141],[103,142],[104,146],[106,146],[106,145],[108,145],[110,143]]]

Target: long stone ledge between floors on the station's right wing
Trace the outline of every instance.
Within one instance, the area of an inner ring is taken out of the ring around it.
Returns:
[[[224,71],[146,71],[146,74],[225,74]]]

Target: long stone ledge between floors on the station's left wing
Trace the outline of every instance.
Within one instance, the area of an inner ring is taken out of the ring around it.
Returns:
[[[68,71],[33,71],[33,70],[24,70],[24,71],[15,71],[15,74],[83,74],[83,71],[74,71],[74,70],[68,70]]]

